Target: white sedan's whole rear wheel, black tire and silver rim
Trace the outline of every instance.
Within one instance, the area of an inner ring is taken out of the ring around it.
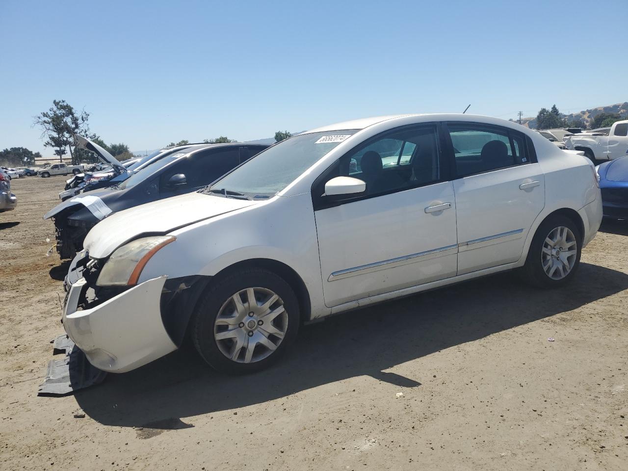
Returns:
[[[524,278],[540,288],[562,286],[576,273],[581,251],[582,235],[573,220],[551,216],[534,234],[522,268]]]

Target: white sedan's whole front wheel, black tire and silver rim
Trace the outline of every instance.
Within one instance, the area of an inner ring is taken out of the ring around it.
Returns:
[[[191,335],[203,360],[229,374],[260,371],[295,340],[299,303],[277,274],[250,268],[212,283],[192,314]]]

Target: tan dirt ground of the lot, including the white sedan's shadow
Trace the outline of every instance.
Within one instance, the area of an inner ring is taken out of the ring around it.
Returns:
[[[252,376],[183,349],[45,398],[64,180],[13,180],[0,214],[0,469],[628,469],[628,222],[561,290],[499,274],[306,326]]]

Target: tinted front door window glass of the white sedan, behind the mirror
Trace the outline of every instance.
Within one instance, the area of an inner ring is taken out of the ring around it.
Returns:
[[[367,196],[438,181],[436,128],[413,127],[370,141],[340,158],[337,175],[364,180]]]

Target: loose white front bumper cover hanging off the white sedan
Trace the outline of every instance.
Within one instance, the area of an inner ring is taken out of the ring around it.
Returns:
[[[77,310],[85,278],[70,286],[63,327],[89,362],[108,372],[126,372],[176,350],[161,320],[166,276],[149,279],[94,308]]]

